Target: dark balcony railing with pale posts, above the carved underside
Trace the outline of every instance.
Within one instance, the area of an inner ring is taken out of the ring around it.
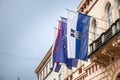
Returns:
[[[108,30],[90,44],[90,55],[118,33],[120,33],[120,19],[117,19]]]

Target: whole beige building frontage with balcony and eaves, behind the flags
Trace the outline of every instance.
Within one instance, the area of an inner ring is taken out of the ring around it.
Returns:
[[[50,49],[36,69],[38,80],[120,80],[120,0],[82,0],[78,12],[91,16],[88,62],[54,73],[45,67]]]

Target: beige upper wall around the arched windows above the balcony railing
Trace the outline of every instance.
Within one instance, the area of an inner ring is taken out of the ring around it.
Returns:
[[[103,33],[105,30],[108,29],[108,20],[107,20],[107,6],[108,4],[111,4],[112,6],[112,19],[113,22],[119,17],[118,15],[118,5],[115,0],[98,0],[96,5],[91,9],[91,11],[88,13],[88,15],[92,16],[91,17],[91,22],[90,22],[90,33],[89,33],[89,38],[93,40],[93,26],[92,26],[92,20],[96,19],[96,24],[97,24],[97,37],[101,33]],[[89,40],[89,44],[92,42],[92,40]]]

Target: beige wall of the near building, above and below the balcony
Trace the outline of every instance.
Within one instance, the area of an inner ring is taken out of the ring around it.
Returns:
[[[95,0],[92,0],[95,1]],[[84,1],[83,1],[84,2]],[[93,2],[91,2],[92,4]],[[92,26],[92,20],[96,19],[96,23],[97,23],[97,34],[100,36],[101,33],[105,32],[108,28],[108,20],[107,20],[107,6],[108,4],[111,4],[112,6],[112,19],[113,19],[113,23],[115,22],[115,20],[117,20],[119,18],[119,14],[118,14],[118,2],[116,2],[116,0],[98,0],[98,2],[95,4],[95,6],[91,9],[91,11],[88,13],[88,15],[92,16],[91,17],[91,21],[90,21],[90,29],[89,29],[89,38],[92,40],[89,40],[89,44],[91,42],[93,42],[93,26]],[[90,6],[91,6],[90,4]],[[87,6],[87,10],[90,8],[90,6]],[[79,10],[78,10],[79,11]],[[84,13],[84,12],[83,12]],[[97,35],[97,37],[99,37]],[[90,52],[90,50],[89,50]],[[90,53],[89,53],[90,54]],[[84,77],[84,80],[115,80],[116,75],[120,72],[118,70],[120,70],[120,60],[111,63],[109,66],[107,67],[101,67],[99,65],[97,65],[97,70],[94,70],[94,72],[92,72],[92,66],[95,66],[94,63],[91,63],[90,60],[88,60],[88,62],[83,62],[81,61],[84,66],[83,66],[83,71],[81,74],[78,73],[77,68],[75,70],[72,70],[72,72],[69,71],[69,75],[66,75],[66,77],[69,77],[71,74],[73,74],[73,80],[79,80],[80,77],[82,78],[83,76],[86,75],[86,70],[88,68],[90,68],[91,73],[89,74],[88,71],[88,76]],[[80,67],[80,64],[78,66],[78,68]],[[96,68],[96,66],[94,67],[94,69]],[[68,73],[68,70],[66,70],[66,73]]]

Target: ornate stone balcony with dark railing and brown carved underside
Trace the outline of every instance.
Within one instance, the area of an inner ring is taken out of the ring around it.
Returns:
[[[120,19],[90,44],[88,57],[101,66],[107,66],[120,59]]]

